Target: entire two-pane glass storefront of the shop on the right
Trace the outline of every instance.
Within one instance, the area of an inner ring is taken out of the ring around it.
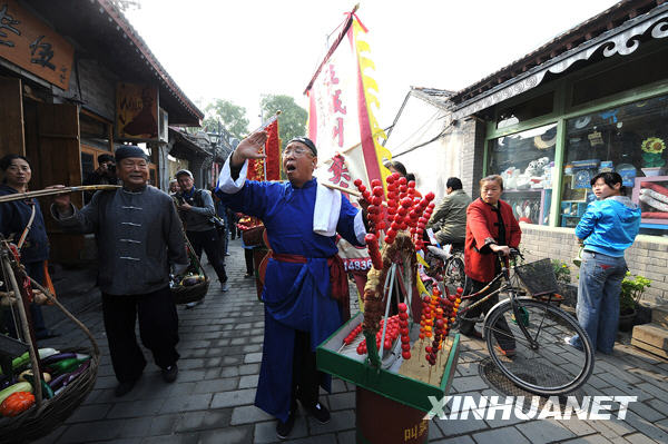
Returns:
[[[668,96],[638,100],[490,140],[487,174],[503,177],[518,220],[548,225],[552,184],[562,175],[557,226],[574,227],[595,199],[591,178],[617,171],[642,209],[641,234],[668,235]],[[554,156],[563,149],[563,169]]]

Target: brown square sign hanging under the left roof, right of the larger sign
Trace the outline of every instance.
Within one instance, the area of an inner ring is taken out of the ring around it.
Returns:
[[[120,140],[158,139],[158,88],[118,83],[116,88],[116,136]]]

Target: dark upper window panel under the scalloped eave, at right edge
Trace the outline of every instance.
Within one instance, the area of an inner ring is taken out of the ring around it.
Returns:
[[[668,78],[668,50],[621,63],[573,83],[572,106],[587,103],[618,92]]]

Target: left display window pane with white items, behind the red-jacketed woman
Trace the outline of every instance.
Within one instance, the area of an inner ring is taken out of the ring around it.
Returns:
[[[557,124],[491,140],[488,174],[503,177],[503,200],[515,218],[546,225],[549,218]]]

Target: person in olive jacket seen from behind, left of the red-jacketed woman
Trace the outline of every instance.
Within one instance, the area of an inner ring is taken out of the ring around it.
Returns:
[[[451,177],[445,182],[448,195],[441,200],[429,219],[426,228],[434,231],[441,246],[462,245],[466,238],[466,208],[471,198],[462,189],[462,181]]]

